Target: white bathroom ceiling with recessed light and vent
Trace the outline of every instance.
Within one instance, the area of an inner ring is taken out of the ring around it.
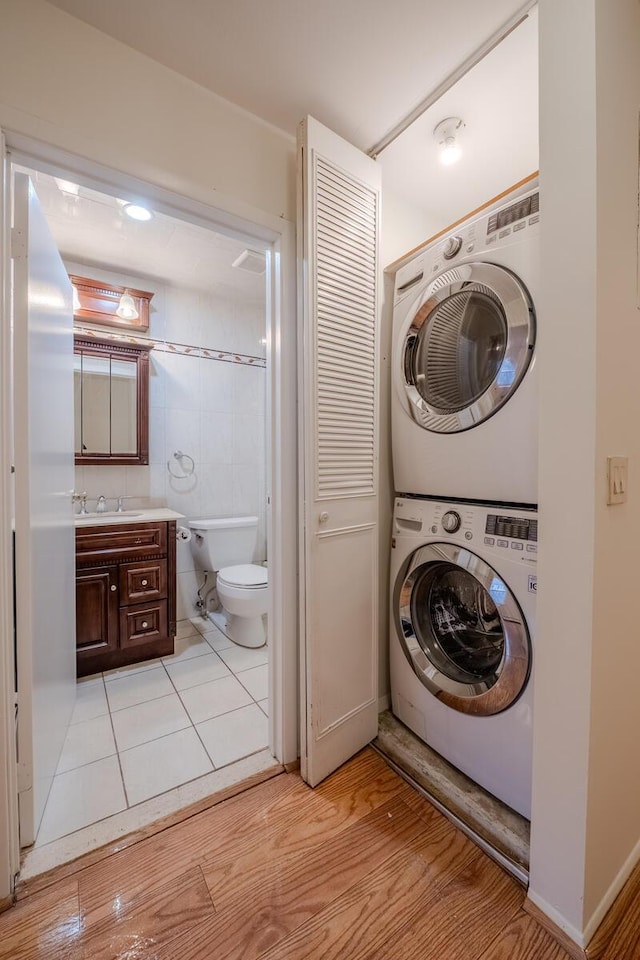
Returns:
[[[115,197],[86,187],[74,195],[48,174],[27,172],[66,260],[220,297],[264,301],[264,275],[231,266],[245,249],[241,241],[159,213],[139,223],[123,213]]]

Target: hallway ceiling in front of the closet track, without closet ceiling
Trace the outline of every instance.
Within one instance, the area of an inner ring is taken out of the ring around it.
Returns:
[[[523,0],[53,0],[286,133],[370,149]]]

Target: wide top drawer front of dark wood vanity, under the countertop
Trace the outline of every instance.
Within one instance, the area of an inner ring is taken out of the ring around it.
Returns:
[[[166,555],[167,524],[118,523],[76,527],[76,560],[79,564],[135,560]]]

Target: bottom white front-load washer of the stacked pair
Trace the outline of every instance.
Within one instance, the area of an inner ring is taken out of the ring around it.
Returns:
[[[533,510],[395,503],[393,713],[528,819],[537,537]]]

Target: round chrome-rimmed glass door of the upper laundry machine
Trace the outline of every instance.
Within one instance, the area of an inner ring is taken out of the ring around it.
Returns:
[[[513,273],[493,263],[447,270],[420,298],[405,337],[413,418],[434,433],[482,423],[517,388],[534,341],[533,304]]]

